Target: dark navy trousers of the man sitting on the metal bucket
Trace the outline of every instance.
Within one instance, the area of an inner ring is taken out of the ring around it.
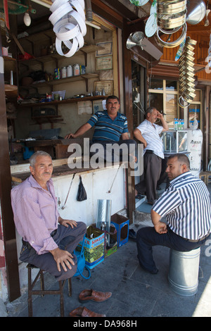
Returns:
[[[156,232],[154,227],[142,227],[136,234],[139,263],[146,270],[152,271],[156,268],[153,260],[153,246],[166,246],[175,251],[192,251],[202,246],[207,238],[198,242],[189,242],[188,239],[176,235],[170,227],[167,227],[167,233],[163,235]]]

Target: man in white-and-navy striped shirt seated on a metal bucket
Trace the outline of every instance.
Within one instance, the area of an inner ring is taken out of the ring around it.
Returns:
[[[205,183],[190,172],[188,157],[174,154],[167,161],[170,186],[151,209],[154,227],[143,227],[136,235],[141,267],[158,273],[152,247],[167,246],[191,251],[205,243],[211,232],[210,194]],[[161,218],[166,217],[166,223]]]

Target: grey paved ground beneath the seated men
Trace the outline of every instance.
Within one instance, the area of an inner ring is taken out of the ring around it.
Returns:
[[[209,185],[210,190],[210,185]],[[136,213],[134,230],[152,225],[149,213],[151,206],[144,202]],[[141,214],[141,221],[139,220]],[[211,241],[201,248],[198,292],[193,296],[181,296],[170,289],[168,283],[170,249],[162,246],[153,248],[155,263],[159,269],[157,275],[142,270],[137,261],[136,242],[129,239],[127,244],[117,249],[102,263],[91,270],[91,277],[85,280],[81,276],[72,278],[72,297],[68,296],[68,284],[64,289],[65,316],[70,311],[86,306],[106,317],[211,317]],[[46,274],[47,284],[56,288],[54,278]],[[108,301],[101,304],[88,301],[80,304],[79,293],[83,289],[95,289],[101,292],[112,292]],[[6,305],[8,317],[27,317],[27,289],[25,293]],[[59,296],[34,296],[34,317],[59,317]]]

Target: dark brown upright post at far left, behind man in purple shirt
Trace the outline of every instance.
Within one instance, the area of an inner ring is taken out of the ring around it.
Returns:
[[[0,58],[4,65],[1,51],[0,29]],[[6,102],[4,92],[4,68],[0,69],[0,201],[1,217],[4,235],[4,249],[6,261],[6,275],[8,285],[8,298],[13,301],[20,296],[20,282],[18,273],[18,254],[15,239],[15,224],[11,208],[11,168],[8,146]]]

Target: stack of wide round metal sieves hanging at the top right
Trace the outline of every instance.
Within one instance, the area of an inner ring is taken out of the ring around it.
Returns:
[[[157,36],[160,44],[167,48],[179,46],[184,41],[187,32],[186,25],[186,0],[173,0],[164,1],[158,0],[157,2]],[[159,32],[166,35],[172,35],[174,32],[179,31],[182,27],[180,37],[174,42],[164,42]]]

